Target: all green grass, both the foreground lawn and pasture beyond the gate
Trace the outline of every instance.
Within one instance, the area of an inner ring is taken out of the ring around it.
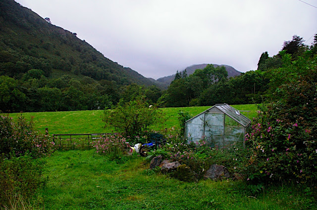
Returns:
[[[236,105],[256,116],[256,105]],[[178,126],[178,111],[193,116],[209,107],[162,108],[164,125]],[[23,113],[35,128],[53,133],[110,132],[100,118],[102,110]],[[19,113],[9,114],[16,118]],[[32,209],[42,210],[306,210],[316,208],[309,187],[292,183],[270,185],[252,192],[244,181],[200,180],[188,183],[150,170],[135,153],[115,161],[95,149],[55,151],[44,158],[46,184],[35,195]]]

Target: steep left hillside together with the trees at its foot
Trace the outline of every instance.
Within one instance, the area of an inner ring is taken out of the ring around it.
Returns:
[[[2,112],[104,109],[118,103],[126,85],[153,85],[15,1],[1,0],[0,9],[0,76],[7,77],[0,79]],[[54,101],[46,101],[48,94]],[[160,90],[145,94],[156,103]]]

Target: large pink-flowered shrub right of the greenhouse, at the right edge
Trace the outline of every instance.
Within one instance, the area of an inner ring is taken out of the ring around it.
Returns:
[[[313,82],[315,81],[315,82]],[[246,135],[250,181],[317,179],[317,70],[284,84]]]

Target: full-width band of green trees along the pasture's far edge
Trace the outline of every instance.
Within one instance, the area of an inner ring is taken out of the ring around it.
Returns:
[[[269,97],[269,89],[278,88],[283,79],[289,77],[289,72],[285,70],[287,62],[302,62],[304,65],[316,59],[317,36],[311,46],[304,45],[303,42],[302,38],[294,36],[292,41],[284,42],[282,51],[277,55],[269,57],[264,52],[256,71],[249,71],[235,78],[227,79],[224,67],[214,68],[212,65],[197,69],[189,76],[186,71],[177,72],[174,81],[164,91],[155,85],[122,85],[116,81],[95,80],[82,75],[77,78],[69,75],[52,78],[48,77],[52,71],[48,62],[31,59],[32,62],[28,60],[26,64],[22,64],[28,66],[26,69],[32,69],[26,72],[21,70],[18,76],[4,74],[5,76],[0,77],[0,110],[34,112],[104,109],[111,108],[120,98],[130,101],[139,95],[146,95],[150,104],[159,103],[165,107],[262,103]],[[10,69],[7,66],[12,61],[18,66],[21,59],[27,58],[15,57],[14,60],[13,54],[7,52],[3,56],[4,51],[0,53],[2,70],[3,66]],[[13,58],[8,59],[9,56]],[[2,71],[1,74],[3,73]]]

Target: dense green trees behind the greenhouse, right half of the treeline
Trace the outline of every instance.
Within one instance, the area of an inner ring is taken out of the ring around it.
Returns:
[[[267,52],[262,53],[256,71],[235,78],[227,79],[224,67],[214,68],[212,65],[197,69],[190,76],[186,72],[177,72],[161,100],[167,107],[262,103],[270,97],[269,90],[278,88],[283,84],[283,78],[294,74],[291,68],[295,68],[295,64],[302,62],[304,66],[307,62],[316,62],[317,35],[312,45],[304,42],[303,38],[294,35],[291,41],[283,43],[277,55],[269,57]]]

